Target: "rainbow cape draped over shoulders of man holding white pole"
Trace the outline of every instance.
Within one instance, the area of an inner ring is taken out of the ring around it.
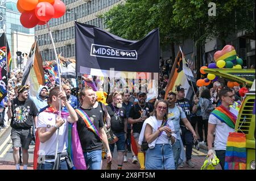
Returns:
[[[51,112],[59,115],[59,111],[56,111],[53,107],[45,107],[40,112]],[[40,113],[39,112],[39,113]],[[67,111],[61,111],[61,117],[69,116]],[[38,166],[38,151],[39,151],[40,141],[38,137],[38,132],[36,132],[35,150],[34,150],[34,170]],[[84,154],[82,153],[82,147],[79,140],[79,135],[77,133],[76,123],[68,123],[68,153],[73,161],[73,170],[86,170],[86,163],[84,159]]]

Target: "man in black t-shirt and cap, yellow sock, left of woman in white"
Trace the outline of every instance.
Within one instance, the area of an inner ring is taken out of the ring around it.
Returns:
[[[139,134],[141,133],[144,120],[150,117],[150,112],[154,111],[154,107],[152,104],[146,102],[147,95],[145,92],[138,92],[137,99],[138,103],[131,107],[128,123],[133,125],[133,137],[137,144],[139,164],[141,165],[141,170],[144,170],[145,158],[144,153],[141,150],[141,145],[138,144]]]

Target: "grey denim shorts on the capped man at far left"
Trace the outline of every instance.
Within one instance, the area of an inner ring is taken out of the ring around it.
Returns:
[[[13,141],[13,148],[22,147],[28,150],[32,136],[30,129],[11,129],[11,141]]]

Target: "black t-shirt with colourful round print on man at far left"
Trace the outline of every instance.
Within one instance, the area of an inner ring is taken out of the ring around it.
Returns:
[[[38,109],[31,99],[19,101],[15,98],[11,101],[11,127],[14,129],[29,129],[34,125],[33,116],[38,114]]]

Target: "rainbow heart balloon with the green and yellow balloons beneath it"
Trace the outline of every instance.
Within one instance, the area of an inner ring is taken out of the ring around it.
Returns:
[[[232,45],[226,45],[222,50],[214,53],[214,60],[218,68],[242,69],[243,60],[237,56]]]

